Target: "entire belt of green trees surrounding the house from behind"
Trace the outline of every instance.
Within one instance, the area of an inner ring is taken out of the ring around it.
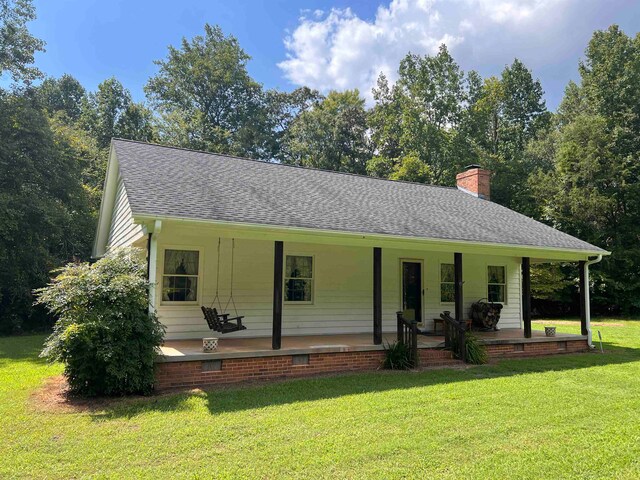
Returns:
[[[89,256],[113,137],[156,141],[356,174],[455,185],[479,163],[492,200],[613,252],[595,303],[640,311],[640,37],[595,32],[580,80],[556,112],[518,59],[499,75],[464,72],[446,46],[407,54],[395,82],[357,90],[265,89],[250,56],[219,26],[169,46],[134,101],[116,78],[87,90],[34,66],[30,0],[0,0],[0,332],[44,325],[32,289]],[[541,298],[570,301],[576,271],[534,269]]]

